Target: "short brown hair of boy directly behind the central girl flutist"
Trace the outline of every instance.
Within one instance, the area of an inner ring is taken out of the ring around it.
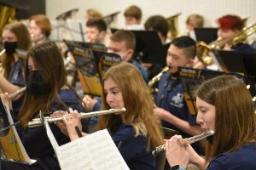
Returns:
[[[119,30],[115,31],[110,37],[113,42],[123,42],[125,41],[125,46],[127,49],[135,49],[136,38],[132,31]]]

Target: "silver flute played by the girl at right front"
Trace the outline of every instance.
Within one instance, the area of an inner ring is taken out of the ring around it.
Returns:
[[[190,138],[183,139],[186,141],[186,144],[193,144],[197,141],[200,141],[201,139],[206,139],[209,136],[212,136],[214,134],[213,130],[207,131],[205,133],[201,133],[199,135],[192,136]],[[152,151],[153,156],[157,156],[160,153],[163,153],[166,151],[166,144],[162,144],[160,146],[157,146],[155,150]]]

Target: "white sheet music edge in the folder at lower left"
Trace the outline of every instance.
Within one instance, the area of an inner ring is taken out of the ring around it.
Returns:
[[[3,106],[4,106],[4,109],[7,113],[7,116],[8,116],[8,119],[9,119],[9,124],[14,124],[14,120],[11,116],[10,111],[9,111],[9,105],[3,104]],[[26,150],[25,150],[23,144],[21,143],[19,134],[17,133],[16,127],[12,126],[12,127],[10,127],[10,129],[14,133],[14,139],[13,140],[14,140],[14,142],[16,142],[17,154],[21,153],[22,155],[20,155],[20,158],[24,159],[24,160],[20,160],[20,161],[24,161],[24,163],[28,163],[28,164],[32,164],[32,163],[36,162],[36,160],[30,159],[30,157],[27,155]]]

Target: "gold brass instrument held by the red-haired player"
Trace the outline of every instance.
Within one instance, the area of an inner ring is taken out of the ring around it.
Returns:
[[[247,37],[251,36],[253,33],[256,32],[256,23],[244,27],[242,31],[236,33],[235,36],[230,37],[227,40],[216,40],[207,44],[206,42],[197,42],[196,43],[196,55],[198,59],[204,65],[212,65],[213,59],[209,56],[209,52],[213,49],[224,48],[225,44],[229,44],[230,46],[236,46],[239,42],[245,42]]]

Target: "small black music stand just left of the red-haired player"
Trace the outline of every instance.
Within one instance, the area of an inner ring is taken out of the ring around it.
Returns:
[[[207,44],[213,42],[218,38],[217,31],[218,28],[195,28],[196,41],[206,42]]]

